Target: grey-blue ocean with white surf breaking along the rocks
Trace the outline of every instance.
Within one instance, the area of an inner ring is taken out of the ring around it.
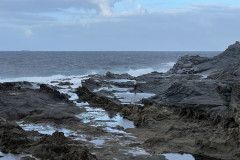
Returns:
[[[184,55],[213,57],[219,53],[1,51],[0,81],[34,81],[38,78],[104,74],[107,71],[139,76],[152,71],[166,72]]]

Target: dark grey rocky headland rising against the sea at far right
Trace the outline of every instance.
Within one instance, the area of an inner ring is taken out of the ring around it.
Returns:
[[[240,65],[240,44],[230,45],[223,53],[213,58],[184,56],[168,73],[215,75],[232,72]],[[233,73],[238,75],[238,69]]]

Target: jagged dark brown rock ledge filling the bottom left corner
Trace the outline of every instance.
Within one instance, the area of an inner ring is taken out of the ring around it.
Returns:
[[[36,140],[35,137],[40,138]],[[66,138],[62,132],[55,132],[52,135],[26,132],[16,123],[4,120],[0,120],[0,150],[4,153],[27,153],[40,159],[96,159],[87,148]]]

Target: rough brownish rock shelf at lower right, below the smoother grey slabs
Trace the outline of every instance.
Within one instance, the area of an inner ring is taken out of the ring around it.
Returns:
[[[147,128],[141,129],[144,136],[140,137],[150,153],[184,152],[204,160],[239,159],[239,131],[234,119],[159,104],[128,106],[123,113],[139,128]]]

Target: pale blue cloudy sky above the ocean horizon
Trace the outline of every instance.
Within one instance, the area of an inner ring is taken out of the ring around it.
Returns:
[[[0,0],[0,50],[222,51],[240,0]]]

